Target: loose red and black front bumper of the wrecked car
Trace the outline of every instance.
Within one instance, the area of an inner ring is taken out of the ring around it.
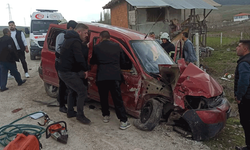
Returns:
[[[230,114],[226,98],[221,104],[209,110],[188,110],[182,118],[189,124],[194,140],[202,141],[215,137],[225,126]]]

